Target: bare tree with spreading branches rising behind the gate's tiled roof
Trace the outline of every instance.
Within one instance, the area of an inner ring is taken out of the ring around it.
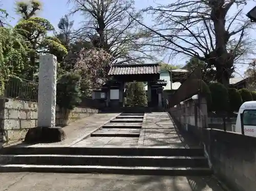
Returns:
[[[112,63],[134,63],[148,58],[138,41],[144,37],[138,23],[140,14],[133,0],[69,0],[75,4],[71,13],[84,15],[79,38],[91,39],[97,48],[112,55]],[[131,15],[131,16],[130,16]]]

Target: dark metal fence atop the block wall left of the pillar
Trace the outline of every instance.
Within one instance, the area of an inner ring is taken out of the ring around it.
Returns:
[[[37,101],[38,83],[26,79],[11,77],[5,82],[3,97]]]

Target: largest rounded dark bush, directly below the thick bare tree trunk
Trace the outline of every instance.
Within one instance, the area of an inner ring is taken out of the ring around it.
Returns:
[[[228,91],[221,83],[209,84],[211,92],[212,103],[210,105],[210,111],[216,113],[226,112],[228,109]]]

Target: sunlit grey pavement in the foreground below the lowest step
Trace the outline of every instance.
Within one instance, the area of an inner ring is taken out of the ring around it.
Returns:
[[[224,191],[211,177],[0,173],[0,191]]]

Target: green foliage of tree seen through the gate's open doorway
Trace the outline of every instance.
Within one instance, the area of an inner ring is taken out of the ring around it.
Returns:
[[[126,104],[131,107],[147,105],[147,96],[143,82],[130,82],[127,84]]]

